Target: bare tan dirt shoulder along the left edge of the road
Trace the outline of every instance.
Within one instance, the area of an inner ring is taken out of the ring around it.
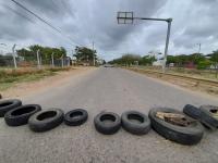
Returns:
[[[48,76],[39,80],[19,83],[15,86],[1,91],[2,98],[19,98],[36,93],[45,88],[51,88],[64,84],[72,75],[83,75],[85,72],[95,70],[95,67],[73,67],[70,71],[58,72],[55,76]]]

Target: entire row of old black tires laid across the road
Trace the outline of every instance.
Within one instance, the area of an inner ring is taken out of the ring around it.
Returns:
[[[170,118],[165,117],[166,115],[170,115]],[[145,135],[153,127],[167,139],[183,145],[195,145],[204,135],[201,123],[207,128],[218,128],[217,115],[218,106],[196,108],[186,104],[183,112],[169,108],[156,108],[149,111],[148,116],[137,111],[124,112],[121,117],[112,112],[101,112],[95,116],[94,124],[95,128],[105,135],[112,135],[121,127],[134,135]],[[65,114],[60,109],[43,111],[38,104],[22,105],[20,100],[3,100],[0,101],[0,117],[4,117],[9,126],[28,124],[34,131],[46,131],[62,122],[69,126],[82,125],[87,121],[88,113],[83,109],[75,109]]]

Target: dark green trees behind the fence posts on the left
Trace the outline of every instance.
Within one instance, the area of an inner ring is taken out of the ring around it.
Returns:
[[[52,47],[43,47],[39,45],[33,45],[28,48],[22,48],[16,50],[16,60],[35,62],[37,61],[37,51],[39,50],[39,55],[41,62],[49,64],[53,55],[53,60],[59,60],[66,57],[66,50],[63,47],[52,48]],[[76,63],[88,63],[93,65],[97,63],[98,57],[97,51],[89,49],[87,47],[75,47],[73,57],[76,60]],[[0,54],[0,66],[7,66],[12,64],[12,53],[7,55]]]

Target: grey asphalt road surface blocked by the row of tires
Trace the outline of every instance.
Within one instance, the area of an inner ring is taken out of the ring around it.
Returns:
[[[0,163],[217,163],[218,131],[205,130],[196,146],[182,146],[166,140],[154,130],[135,136],[120,129],[105,136],[95,130],[93,120],[101,111],[121,114],[137,110],[145,114],[153,106],[182,110],[191,103],[217,104],[218,100],[147,78],[120,68],[97,68],[72,76],[65,84],[23,98],[24,103],[88,111],[87,123],[80,127],[59,127],[36,134],[28,126],[9,127],[0,120]]]

